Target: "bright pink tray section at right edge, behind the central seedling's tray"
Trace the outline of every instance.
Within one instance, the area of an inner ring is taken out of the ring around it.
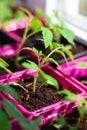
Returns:
[[[65,63],[65,64],[61,65],[60,67],[57,67],[57,69],[66,73],[67,75],[75,77],[75,78],[81,78],[81,77],[87,76],[87,68],[78,69],[76,67],[77,63],[79,63],[79,62],[87,63],[87,56],[83,56],[81,58],[78,58],[78,59],[75,59],[68,63]]]

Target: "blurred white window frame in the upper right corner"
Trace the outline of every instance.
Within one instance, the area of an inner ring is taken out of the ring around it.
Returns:
[[[58,10],[61,19],[75,33],[76,39],[87,45],[87,17],[79,13],[79,0],[46,0],[46,13]]]

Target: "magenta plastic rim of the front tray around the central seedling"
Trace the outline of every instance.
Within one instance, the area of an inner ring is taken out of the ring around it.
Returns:
[[[74,81],[70,81],[66,75],[61,73],[60,71],[57,71],[53,69],[51,66],[46,65],[42,68],[46,73],[53,76],[63,87],[63,89],[68,89],[70,91],[74,91],[77,94],[84,94],[85,89],[82,87],[79,87],[78,84]],[[25,69],[23,71],[15,72],[14,75],[5,75],[1,76],[0,78],[0,84],[7,84],[9,82],[17,82],[20,79],[26,79],[31,78],[35,75],[35,71],[30,71],[28,69]],[[67,115],[70,112],[73,112],[76,108],[76,105],[73,102],[69,101],[60,101],[57,103],[54,103],[52,105],[46,106],[44,108],[41,108],[39,110],[35,111],[28,111],[26,110],[21,104],[19,104],[12,96],[10,95],[4,95],[6,98],[8,98],[11,102],[13,102],[16,107],[21,111],[22,114],[24,114],[28,120],[31,120],[33,118],[36,118],[38,116],[42,116],[42,122],[41,124],[45,124],[49,120],[56,118],[59,114]]]

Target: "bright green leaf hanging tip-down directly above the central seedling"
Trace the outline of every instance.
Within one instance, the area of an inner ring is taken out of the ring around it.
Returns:
[[[53,34],[50,31],[50,29],[48,29],[46,27],[42,27],[41,31],[42,31],[42,35],[43,35],[45,48],[47,48],[50,46],[50,44],[52,44]]]

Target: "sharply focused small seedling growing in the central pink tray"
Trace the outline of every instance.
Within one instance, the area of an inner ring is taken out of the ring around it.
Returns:
[[[31,48],[24,48],[24,49],[31,50]],[[44,63],[46,63],[48,61],[56,63],[56,61],[50,59],[49,56],[44,57],[43,60],[41,60],[42,52],[38,51],[35,48],[33,48],[32,51],[35,51],[34,53],[36,53],[36,55],[38,57],[38,65],[35,62],[33,62],[33,61],[27,60],[27,61],[22,63],[22,66],[25,67],[25,68],[28,68],[28,69],[36,71],[36,76],[34,77],[34,83],[33,83],[33,92],[36,91],[37,80],[40,80],[42,84],[45,84],[45,85],[50,84],[50,85],[54,86],[55,88],[58,88],[59,87],[58,86],[58,82],[53,77],[45,74],[41,70],[41,67],[43,66]]]

